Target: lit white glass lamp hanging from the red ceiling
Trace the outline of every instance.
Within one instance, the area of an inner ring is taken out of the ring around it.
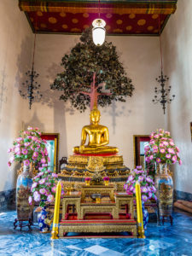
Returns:
[[[106,22],[102,19],[93,20],[92,37],[93,43],[96,46],[101,46],[105,42],[105,28]]]

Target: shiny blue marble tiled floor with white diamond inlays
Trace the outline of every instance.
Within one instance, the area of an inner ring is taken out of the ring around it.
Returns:
[[[192,255],[192,215],[174,212],[174,224],[148,224],[146,239],[59,239],[50,234],[14,230],[15,212],[0,212],[0,255]]]

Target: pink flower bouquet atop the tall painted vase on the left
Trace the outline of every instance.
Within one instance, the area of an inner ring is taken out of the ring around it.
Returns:
[[[22,161],[25,166],[34,163],[37,167],[48,164],[47,149],[45,148],[46,141],[41,139],[41,132],[38,128],[28,127],[27,131],[20,131],[20,137],[15,139],[14,147],[9,148],[8,153],[12,156],[9,159],[8,165],[14,161]]]

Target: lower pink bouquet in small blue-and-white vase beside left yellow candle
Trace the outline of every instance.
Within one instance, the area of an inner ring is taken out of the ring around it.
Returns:
[[[58,175],[47,171],[44,167],[43,172],[39,172],[36,177],[32,178],[31,195],[28,198],[29,204],[32,201],[40,202],[39,206],[44,207],[47,202],[51,203],[55,199],[56,183],[58,182]],[[61,186],[61,195],[64,191]]]

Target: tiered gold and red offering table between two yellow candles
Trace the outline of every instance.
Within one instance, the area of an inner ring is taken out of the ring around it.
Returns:
[[[96,202],[96,196],[101,201]],[[73,207],[73,212],[70,212],[70,207]],[[124,218],[120,213],[122,207],[125,208]],[[115,193],[113,185],[83,186],[81,191],[64,195],[62,199],[59,235],[63,237],[68,232],[129,232],[131,237],[136,237],[137,221],[133,215],[131,195]]]

